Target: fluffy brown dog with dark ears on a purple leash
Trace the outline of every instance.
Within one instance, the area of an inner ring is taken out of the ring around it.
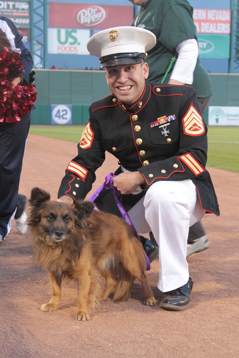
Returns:
[[[91,202],[71,206],[51,201],[39,188],[32,189],[29,202],[28,237],[34,259],[49,272],[52,283],[52,298],[41,306],[42,311],[57,309],[62,278],[78,283],[77,320],[89,319],[88,308],[111,292],[113,301],[128,300],[134,277],[143,286],[145,304],[156,304],[145,275],[143,246],[126,222],[94,210]],[[106,280],[103,292],[97,272]]]

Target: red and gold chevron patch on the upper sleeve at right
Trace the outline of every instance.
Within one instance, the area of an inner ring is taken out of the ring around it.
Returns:
[[[186,115],[182,119],[183,133],[190,136],[198,136],[205,133],[202,116],[191,103]]]

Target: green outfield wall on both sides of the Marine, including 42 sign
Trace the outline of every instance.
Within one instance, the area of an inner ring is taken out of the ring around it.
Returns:
[[[104,71],[35,69],[35,72],[38,95],[32,124],[86,124],[90,104],[110,94]],[[239,74],[210,73],[210,77],[213,89],[210,106],[239,107]],[[204,113],[207,124],[208,116],[207,109]]]

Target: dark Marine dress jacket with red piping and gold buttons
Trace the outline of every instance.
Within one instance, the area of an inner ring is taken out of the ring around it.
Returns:
[[[58,197],[85,198],[108,151],[125,169],[138,170],[147,183],[141,194],[119,195],[127,210],[154,182],[191,179],[202,208],[219,215],[205,169],[207,127],[192,87],[145,82],[141,98],[131,107],[110,95],[92,103],[89,112],[78,155],[67,166]]]

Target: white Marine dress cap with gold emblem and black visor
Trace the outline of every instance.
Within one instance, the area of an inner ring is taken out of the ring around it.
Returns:
[[[87,50],[100,57],[102,68],[141,63],[155,44],[156,37],[149,30],[120,26],[94,34],[87,42]]]

